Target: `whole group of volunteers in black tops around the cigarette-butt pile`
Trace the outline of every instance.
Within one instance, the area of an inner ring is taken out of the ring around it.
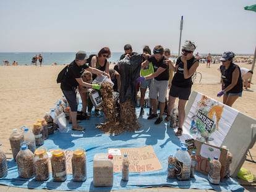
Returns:
[[[192,75],[197,70],[199,59],[194,56],[195,44],[191,41],[186,41],[182,46],[182,56],[177,58],[176,64],[170,59],[171,52],[169,49],[164,49],[163,46],[157,45],[153,48],[153,54],[148,46],[143,48],[143,61],[141,63],[140,77],[136,79],[137,85],[140,86],[140,116],[144,114],[143,104],[147,88],[149,89],[150,109],[148,120],[156,119],[155,124],[163,122],[164,109],[167,108],[166,118],[173,112],[176,99],[178,98],[178,117],[179,127],[177,128],[176,136],[182,135],[182,126],[185,120],[185,106],[189,99],[192,88]],[[125,57],[137,55],[137,52],[132,51],[132,46],[126,44],[124,46],[124,54],[120,60]],[[66,73],[64,80],[61,83],[61,90],[66,96],[70,106],[70,123],[73,130],[84,130],[77,123],[77,88],[82,99],[82,110],[88,116],[91,115],[92,105],[88,105],[88,91],[90,88],[100,90],[99,84],[92,84],[92,81],[97,75],[106,75],[114,83],[114,91],[120,91],[121,78],[119,72],[119,62],[114,66],[114,69],[109,69],[108,58],[111,57],[111,51],[108,47],[100,49],[97,55],[89,56],[85,51],[79,51],[75,55],[75,60],[70,63],[69,70]],[[240,68],[233,63],[233,52],[224,52],[220,61],[221,65],[221,80],[222,90],[218,96],[223,96],[223,103],[232,106],[234,101],[242,95],[242,77]],[[90,65],[87,65],[87,59],[90,60]],[[166,98],[168,88],[169,98]],[[159,115],[157,110],[160,110]],[[98,109],[95,109],[95,115],[100,117]]]

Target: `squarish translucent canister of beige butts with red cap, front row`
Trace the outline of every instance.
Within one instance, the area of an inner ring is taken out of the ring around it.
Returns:
[[[93,185],[113,186],[113,156],[98,153],[93,157]]]

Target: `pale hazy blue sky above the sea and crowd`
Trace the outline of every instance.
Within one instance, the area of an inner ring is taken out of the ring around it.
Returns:
[[[0,52],[123,52],[131,44],[179,51],[253,54],[252,0],[0,0]],[[180,29],[183,16],[183,28]]]

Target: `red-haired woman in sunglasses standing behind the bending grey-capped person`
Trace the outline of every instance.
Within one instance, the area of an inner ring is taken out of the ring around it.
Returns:
[[[111,57],[111,52],[109,48],[105,47],[100,49],[100,51],[98,52],[98,55],[92,57],[92,68],[101,70],[103,73],[107,73],[109,76],[109,62],[108,62],[109,57]],[[93,74],[93,80],[95,80],[96,77],[97,75]],[[99,91],[99,94],[100,94],[100,91]],[[88,115],[90,115],[91,112],[92,112],[92,107],[88,106]],[[96,117],[101,117],[99,113],[99,109],[95,109],[95,115]]]

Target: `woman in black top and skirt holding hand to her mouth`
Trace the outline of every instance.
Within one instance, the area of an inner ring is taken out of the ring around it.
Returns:
[[[199,65],[198,59],[193,55],[195,51],[195,44],[191,41],[186,41],[184,46],[182,46],[182,56],[177,59],[176,65],[171,64],[168,61],[171,68],[176,72],[173,76],[173,81],[171,83],[171,88],[169,91],[169,101],[168,101],[168,114],[171,115],[173,111],[176,98],[179,98],[178,111],[179,111],[179,128],[177,129],[176,136],[181,136],[183,129],[183,123],[185,120],[185,106],[187,100],[191,93],[192,86],[192,75],[197,70]],[[171,125],[171,124],[170,124]]]

